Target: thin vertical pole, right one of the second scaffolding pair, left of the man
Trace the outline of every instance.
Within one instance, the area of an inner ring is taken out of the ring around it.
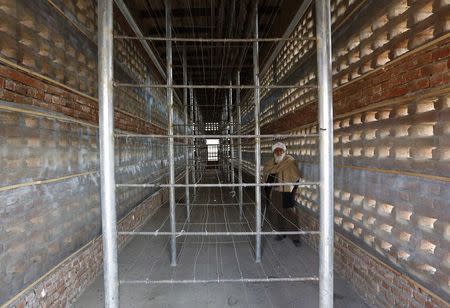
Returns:
[[[255,4],[255,39],[259,38],[258,27],[258,1]],[[259,129],[259,44],[253,42],[253,78],[255,80],[255,135],[260,135]],[[255,182],[261,183],[261,139],[255,137]],[[256,217],[256,262],[261,262],[261,186],[255,187],[255,217]]]

